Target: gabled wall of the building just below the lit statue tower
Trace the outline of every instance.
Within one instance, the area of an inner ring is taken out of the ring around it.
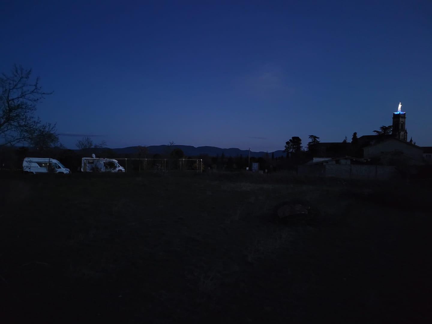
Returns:
[[[414,145],[402,143],[399,140],[386,140],[373,146],[366,146],[363,148],[363,157],[370,159],[375,156],[380,156],[381,153],[390,153],[394,151],[403,152],[404,156],[409,156],[418,161],[422,160],[423,150]]]

